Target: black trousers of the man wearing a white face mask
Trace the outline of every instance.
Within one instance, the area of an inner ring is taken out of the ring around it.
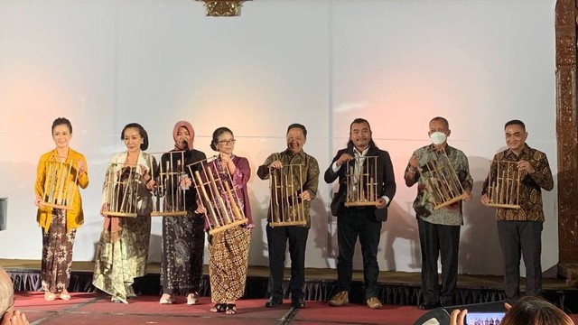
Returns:
[[[424,302],[452,305],[458,283],[460,226],[436,225],[417,218],[422,248],[422,294]],[[438,257],[442,259],[442,289],[437,273]]]

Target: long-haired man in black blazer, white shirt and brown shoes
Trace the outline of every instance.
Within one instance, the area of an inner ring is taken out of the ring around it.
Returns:
[[[377,204],[375,206],[345,207],[347,194],[346,170],[348,162],[356,169],[370,163],[365,157],[377,156],[375,178],[377,185]],[[371,127],[363,118],[356,118],[350,125],[350,141],[347,148],[341,149],[325,172],[325,181],[331,183],[338,179],[340,188],[331,201],[331,213],[337,216],[337,293],[331,298],[330,306],[338,307],[349,302],[353,270],[352,260],[355,243],[359,237],[363,253],[363,280],[365,299],[371,309],[383,308],[378,299],[378,245],[381,235],[381,223],[387,220],[387,207],[396,194],[396,180],[389,153],[380,150],[371,139]]]

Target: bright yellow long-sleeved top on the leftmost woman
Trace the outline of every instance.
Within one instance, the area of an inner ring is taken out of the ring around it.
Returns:
[[[36,183],[34,184],[34,191],[36,197],[41,197],[44,193],[44,182],[46,181],[46,162],[55,160],[56,150],[42,154],[40,157],[40,162],[38,162],[38,171],[36,173]],[[82,198],[80,198],[79,186],[82,189],[86,189],[89,186],[89,166],[87,164],[86,158],[82,153],[78,153],[72,149],[69,149],[68,159],[73,163],[70,174],[67,178],[67,183],[65,186],[71,186],[73,191],[72,195],[72,209],[67,210],[66,213],[66,232],[70,232],[71,229],[79,228],[80,225],[84,223],[84,213],[82,212]],[[76,172],[78,171],[78,162],[84,164],[84,172],[79,173],[78,184],[74,182],[76,177]],[[36,220],[38,225],[47,232],[51,227],[52,222],[52,208],[51,207],[40,207],[38,209],[38,214],[36,215]]]

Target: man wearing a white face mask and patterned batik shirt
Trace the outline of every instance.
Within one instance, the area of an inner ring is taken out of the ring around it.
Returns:
[[[412,154],[406,167],[404,179],[408,187],[417,183],[414,201],[415,218],[419,229],[422,250],[422,294],[421,310],[452,305],[453,291],[458,282],[458,248],[460,227],[463,224],[461,201],[441,209],[433,209],[429,198],[433,195],[426,186],[429,171],[426,163],[433,161],[440,152],[447,154],[452,169],[464,190],[464,199],[471,200],[473,180],[468,167],[468,158],[460,150],[448,145],[451,134],[448,121],[440,116],[433,117],[429,124],[432,144],[421,147]],[[438,283],[437,260],[442,259],[442,289]]]

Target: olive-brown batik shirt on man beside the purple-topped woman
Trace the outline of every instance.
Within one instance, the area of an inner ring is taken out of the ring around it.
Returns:
[[[293,168],[293,185],[295,189],[300,189],[301,191],[309,191],[311,200],[303,202],[304,217],[307,220],[307,225],[305,227],[311,227],[311,218],[309,215],[309,209],[311,208],[311,201],[317,196],[317,185],[319,183],[319,164],[317,160],[311,155],[300,151],[299,153],[291,153],[289,149],[282,153],[272,153],[269,155],[261,166],[256,171],[257,176],[261,180],[268,180],[270,176],[269,165],[275,161],[280,161],[285,165],[295,165]],[[296,165],[301,165],[301,175],[299,175],[299,167]],[[271,209],[267,212],[267,221],[271,221]]]

